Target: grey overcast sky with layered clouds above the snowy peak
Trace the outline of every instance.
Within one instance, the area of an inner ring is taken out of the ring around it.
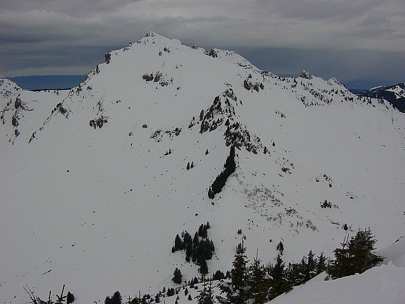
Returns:
[[[405,82],[404,0],[0,0],[0,75],[86,74],[147,31],[275,74]]]

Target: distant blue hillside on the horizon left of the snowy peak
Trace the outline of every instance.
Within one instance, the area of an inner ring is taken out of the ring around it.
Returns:
[[[56,90],[77,87],[85,75],[32,75],[11,77],[24,90]]]

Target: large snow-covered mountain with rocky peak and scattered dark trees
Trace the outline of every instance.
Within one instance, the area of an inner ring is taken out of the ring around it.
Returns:
[[[70,90],[0,80],[2,300],[27,301],[26,285],[47,298],[65,284],[78,302],[155,294],[175,268],[199,275],[171,248],[207,221],[209,273],[231,268],[241,238],[273,262],[279,242],[299,261],[358,227],[378,249],[403,235],[405,120],[391,104],[153,32],[105,57]]]

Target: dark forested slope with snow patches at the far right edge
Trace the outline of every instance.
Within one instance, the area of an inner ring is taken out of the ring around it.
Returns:
[[[405,112],[405,83],[394,86],[379,86],[356,93],[362,98],[377,98],[389,102],[400,112]]]

